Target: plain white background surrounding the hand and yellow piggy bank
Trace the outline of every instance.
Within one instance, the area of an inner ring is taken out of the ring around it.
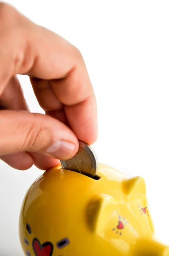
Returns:
[[[161,241],[169,244],[169,2],[8,0],[23,14],[76,45],[96,93],[99,161],[146,180]],[[32,38],[34,40],[34,38]],[[19,76],[31,111],[43,111]],[[42,172],[0,162],[0,255],[22,256],[20,206]]]

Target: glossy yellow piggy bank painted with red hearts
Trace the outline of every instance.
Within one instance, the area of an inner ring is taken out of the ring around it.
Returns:
[[[27,256],[167,256],[158,243],[144,179],[99,164],[95,178],[50,169],[25,195],[20,242]]]

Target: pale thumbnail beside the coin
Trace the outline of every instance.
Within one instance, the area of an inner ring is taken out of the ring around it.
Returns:
[[[46,150],[46,152],[60,160],[64,160],[66,158],[68,159],[69,157],[71,157],[74,150],[75,150],[74,144],[69,143],[68,141],[65,141],[65,140],[59,140],[53,145],[51,145]]]

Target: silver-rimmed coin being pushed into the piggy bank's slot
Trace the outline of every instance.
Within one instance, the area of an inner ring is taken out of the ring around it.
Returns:
[[[82,173],[86,176],[94,177],[98,169],[98,160],[90,145],[79,141],[79,150],[76,155],[69,160],[61,160],[63,169]]]

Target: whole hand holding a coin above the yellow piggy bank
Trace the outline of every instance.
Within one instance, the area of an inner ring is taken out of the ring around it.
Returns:
[[[30,113],[17,74],[30,77],[45,114]],[[0,158],[48,169],[97,139],[96,99],[76,47],[0,3]]]

